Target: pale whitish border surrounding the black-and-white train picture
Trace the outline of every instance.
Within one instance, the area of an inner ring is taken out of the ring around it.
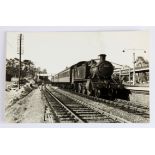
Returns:
[[[150,32],[150,123],[87,123],[87,124],[67,124],[67,123],[5,123],[5,58],[6,58],[6,32],[102,32],[102,31],[149,31]],[[0,127],[7,128],[153,128],[155,127],[155,98],[153,97],[155,86],[155,27],[137,26],[10,26],[0,27]]]

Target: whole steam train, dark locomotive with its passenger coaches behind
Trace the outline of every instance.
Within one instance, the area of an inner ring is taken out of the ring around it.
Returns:
[[[106,60],[106,55],[99,57],[66,68],[52,77],[52,85],[96,97],[120,98],[125,92],[124,85],[113,75],[114,66]]]

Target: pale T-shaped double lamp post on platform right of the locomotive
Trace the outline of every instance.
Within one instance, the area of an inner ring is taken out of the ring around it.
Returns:
[[[135,51],[144,51],[144,53],[146,53],[146,51],[144,49],[124,49],[122,52],[126,52],[126,51],[132,51],[133,53],[133,86],[135,85],[135,63],[136,63],[136,58],[135,58]]]

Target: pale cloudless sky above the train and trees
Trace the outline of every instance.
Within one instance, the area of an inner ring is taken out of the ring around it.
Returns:
[[[22,32],[7,32],[6,58],[19,57],[17,38]],[[105,32],[23,32],[22,59],[55,74],[79,61],[106,54],[106,59],[121,65],[133,65],[133,52],[149,61],[150,36],[147,31]],[[125,49],[125,52],[122,51]],[[146,51],[146,53],[144,53]]]

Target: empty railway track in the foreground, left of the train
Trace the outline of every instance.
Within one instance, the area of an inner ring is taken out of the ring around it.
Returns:
[[[53,89],[49,90],[44,88],[42,91],[47,100],[45,115],[48,111],[48,119],[52,117],[52,122],[129,123],[129,121],[125,119],[114,116],[101,109],[91,107],[87,105],[87,103],[72,98],[71,96],[63,95]]]

